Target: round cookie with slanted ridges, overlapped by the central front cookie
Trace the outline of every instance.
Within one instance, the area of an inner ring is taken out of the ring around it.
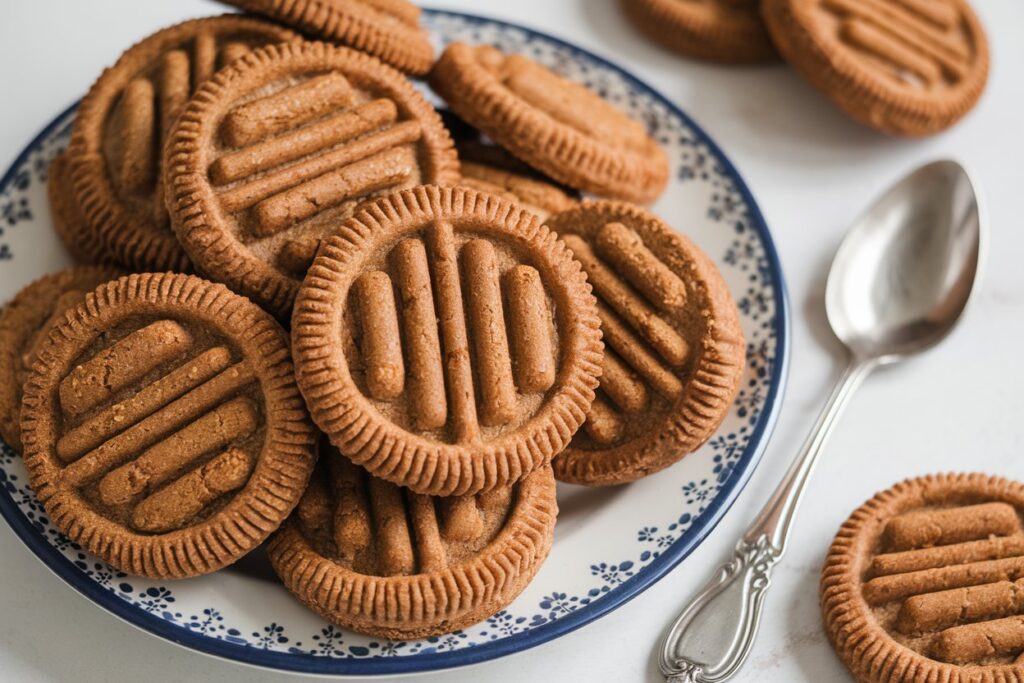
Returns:
[[[207,83],[167,147],[174,229],[197,267],[288,319],[322,238],[369,199],[459,180],[406,77],[325,43],[253,52]]]

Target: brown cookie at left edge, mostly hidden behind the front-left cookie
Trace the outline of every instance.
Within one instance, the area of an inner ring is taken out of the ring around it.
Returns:
[[[0,313],[0,437],[22,452],[22,387],[39,347],[66,311],[87,292],[121,274],[116,268],[81,266],[40,278]]]

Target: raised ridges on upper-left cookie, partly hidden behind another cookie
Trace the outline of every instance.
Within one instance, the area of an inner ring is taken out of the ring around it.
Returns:
[[[171,125],[196,86],[249,50],[243,42],[218,46],[216,36],[203,31],[191,41],[190,52],[187,46],[164,52],[152,76],[137,76],[125,87],[123,127],[118,131],[123,144],[121,186],[132,195],[156,193],[153,217],[158,226],[169,225],[159,167]]]

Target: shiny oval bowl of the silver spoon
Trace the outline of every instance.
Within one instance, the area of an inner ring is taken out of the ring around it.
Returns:
[[[825,289],[828,324],[855,356],[893,362],[941,341],[980,268],[981,208],[954,161],[923,166],[854,222]]]

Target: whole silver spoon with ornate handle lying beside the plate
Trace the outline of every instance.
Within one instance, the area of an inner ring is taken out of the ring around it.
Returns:
[[[785,552],[800,499],[840,414],[873,369],[935,346],[955,327],[978,275],[983,233],[974,185],[952,161],[910,173],[850,228],[825,288],[846,370],[732,559],[672,625],[660,656],[669,683],[717,683],[742,666],[772,566]]]

